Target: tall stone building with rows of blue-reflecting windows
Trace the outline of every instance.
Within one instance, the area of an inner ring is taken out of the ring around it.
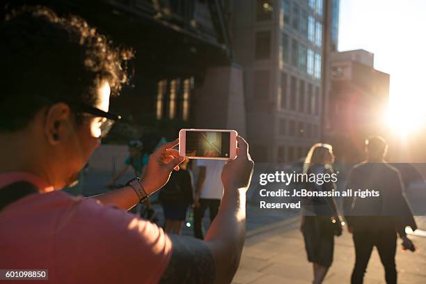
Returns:
[[[255,161],[294,161],[319,140],[324,22],[336,7],[336,0],[234,1],[231,38]]]

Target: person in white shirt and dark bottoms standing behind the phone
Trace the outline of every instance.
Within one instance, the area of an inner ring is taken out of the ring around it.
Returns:
[[[194,198],[194,235],[198,239],[204,239],[203,217],[208,208],[210,221],[214,217],[221,205],[223,196],[223,183],[221,180],[222,168],[225,161],[218,159],[199,159],[198,183]]]

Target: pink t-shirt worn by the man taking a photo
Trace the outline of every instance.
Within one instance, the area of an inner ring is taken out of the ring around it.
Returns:
[[[31,182],[43,194],[0,211],[0,269],[48,269],[48,283],[159,281],[172,251],[161,228],[95,200],[52,191],[28,173],[0,174],[0,190],[17,181]]]

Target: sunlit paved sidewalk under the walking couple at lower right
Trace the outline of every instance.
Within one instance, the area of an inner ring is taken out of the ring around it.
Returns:
[[[426,229],[426,217],[417,219],[420,229]],[[346,228],[345,228],[346,229]],[[418,246],[415,253],[400,251],[397,247],[398,283],[426,283],[426,237],[412,235],[410,238]],[[354,265],[352,235],[347,230],[336,238],[334,262],[324,283],[349,283]],[[299,219],[281,221],[262,230],[248,232],[242,260],[232,283],[234,284],[274,284],[312,283],[312,265],[306,259],[306,251]],[[364,283],[386,283],[384,269],[379,255],[374,249]]]

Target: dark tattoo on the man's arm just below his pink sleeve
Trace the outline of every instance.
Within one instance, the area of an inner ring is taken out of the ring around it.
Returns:
[[[173,252],[160,283],[213,283],[214,260],[204,242],[180,235],[169,237]]]

